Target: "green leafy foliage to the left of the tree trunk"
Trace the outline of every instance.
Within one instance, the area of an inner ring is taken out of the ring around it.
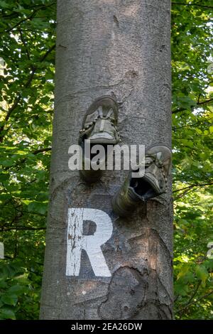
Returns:
[[[48,208],[55,2],[0,1],[0,318],[38,318]]]

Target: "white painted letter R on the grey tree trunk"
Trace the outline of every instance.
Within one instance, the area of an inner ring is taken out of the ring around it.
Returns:
[[[94,235],[83,235],[83,222],[95,222]],[[111,237],[113,226],[106,212],[97,209],[68,209],[67,227],[67,276],[78,276],[82,249],[87,252],[95,276],[110,277],[101,245]]]

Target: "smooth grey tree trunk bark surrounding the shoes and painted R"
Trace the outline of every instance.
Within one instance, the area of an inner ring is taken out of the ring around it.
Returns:
[[[68,168],[86,109],[113,93],[122,144],[171,146],[170,1],[58,0],[55,115],[42,319],[170,319],[173,316],[172,199],[149,200],[119,219],[111,197],[126,171],[87,185]],[[68,208],[104,210],[113,235],[102,251],[111,277],[65,276]]]

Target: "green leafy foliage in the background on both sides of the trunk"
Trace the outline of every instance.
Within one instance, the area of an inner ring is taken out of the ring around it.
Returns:
[[[211,319],[212,8],[173,3],[175,316]],[[0,319],[35,319],[48,207],[55,1],[0,0]]]

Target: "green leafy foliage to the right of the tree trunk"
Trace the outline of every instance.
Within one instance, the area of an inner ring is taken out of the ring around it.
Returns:
[[[175,314],[211,319],[213,7],[182,2],[172,11]]]

